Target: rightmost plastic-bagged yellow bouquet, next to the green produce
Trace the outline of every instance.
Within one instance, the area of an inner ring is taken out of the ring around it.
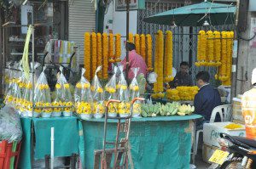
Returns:
[[[132,99],[140,97],[139,86],[137,83],[137,73],[139,71],[139,68],[132,68],[131,70],[133,71],[133,74],[134,74],[134,77],[133,77],[130,87],[129,87],[130,88],[130,99],[132,100]],[[141,112],[142,112],[141,103],[140,103],[140,101],[136,101],[133,104],[132,116],[138,117],[141,115]]]

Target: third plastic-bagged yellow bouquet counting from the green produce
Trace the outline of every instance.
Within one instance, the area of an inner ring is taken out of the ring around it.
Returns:
[[[116,90],[116,74],[118,67],[114,66],[113,76],[110,78],[109,82],[105,87],[105,100],[117,99],[117,90]],[[118,113],[118,103],[110,103],[108,105],[108,116],[116,117]]]

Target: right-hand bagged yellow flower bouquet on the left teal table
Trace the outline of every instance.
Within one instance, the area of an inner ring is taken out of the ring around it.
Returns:
[[[35,87],[35,105],[36,108],[33,112],[34,117],[38,117],[40,114],[42,114],[42,117],[50,117],[52,109],[49,108],[51,106],[51,99],[49,94],[49,85],[46,79],[46,76],[44,74],[45,67],[41,73],[41,75],[38,77],[38,82],[36,83]],[[43,106],[45,108],[37,108],[40,106]]]

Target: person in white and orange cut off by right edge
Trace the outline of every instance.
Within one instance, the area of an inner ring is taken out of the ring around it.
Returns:
[[[256,139],[256,68],[253,69],[252,85],[253,88],[242,95],[241,110],[247,138]]]

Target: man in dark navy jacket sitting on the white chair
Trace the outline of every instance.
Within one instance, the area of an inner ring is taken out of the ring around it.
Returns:
[[[195,113],[203,116],[196,124],[196,129],[200,130],[204,123],[210,121],[212,110],[221,104],[221,99],[218,90],[209,84],[210,75],[207,71],[200,71],[195,77],[197,86],[200,87],[194,100]],[[219,120],[218,115],[216,121]]]

